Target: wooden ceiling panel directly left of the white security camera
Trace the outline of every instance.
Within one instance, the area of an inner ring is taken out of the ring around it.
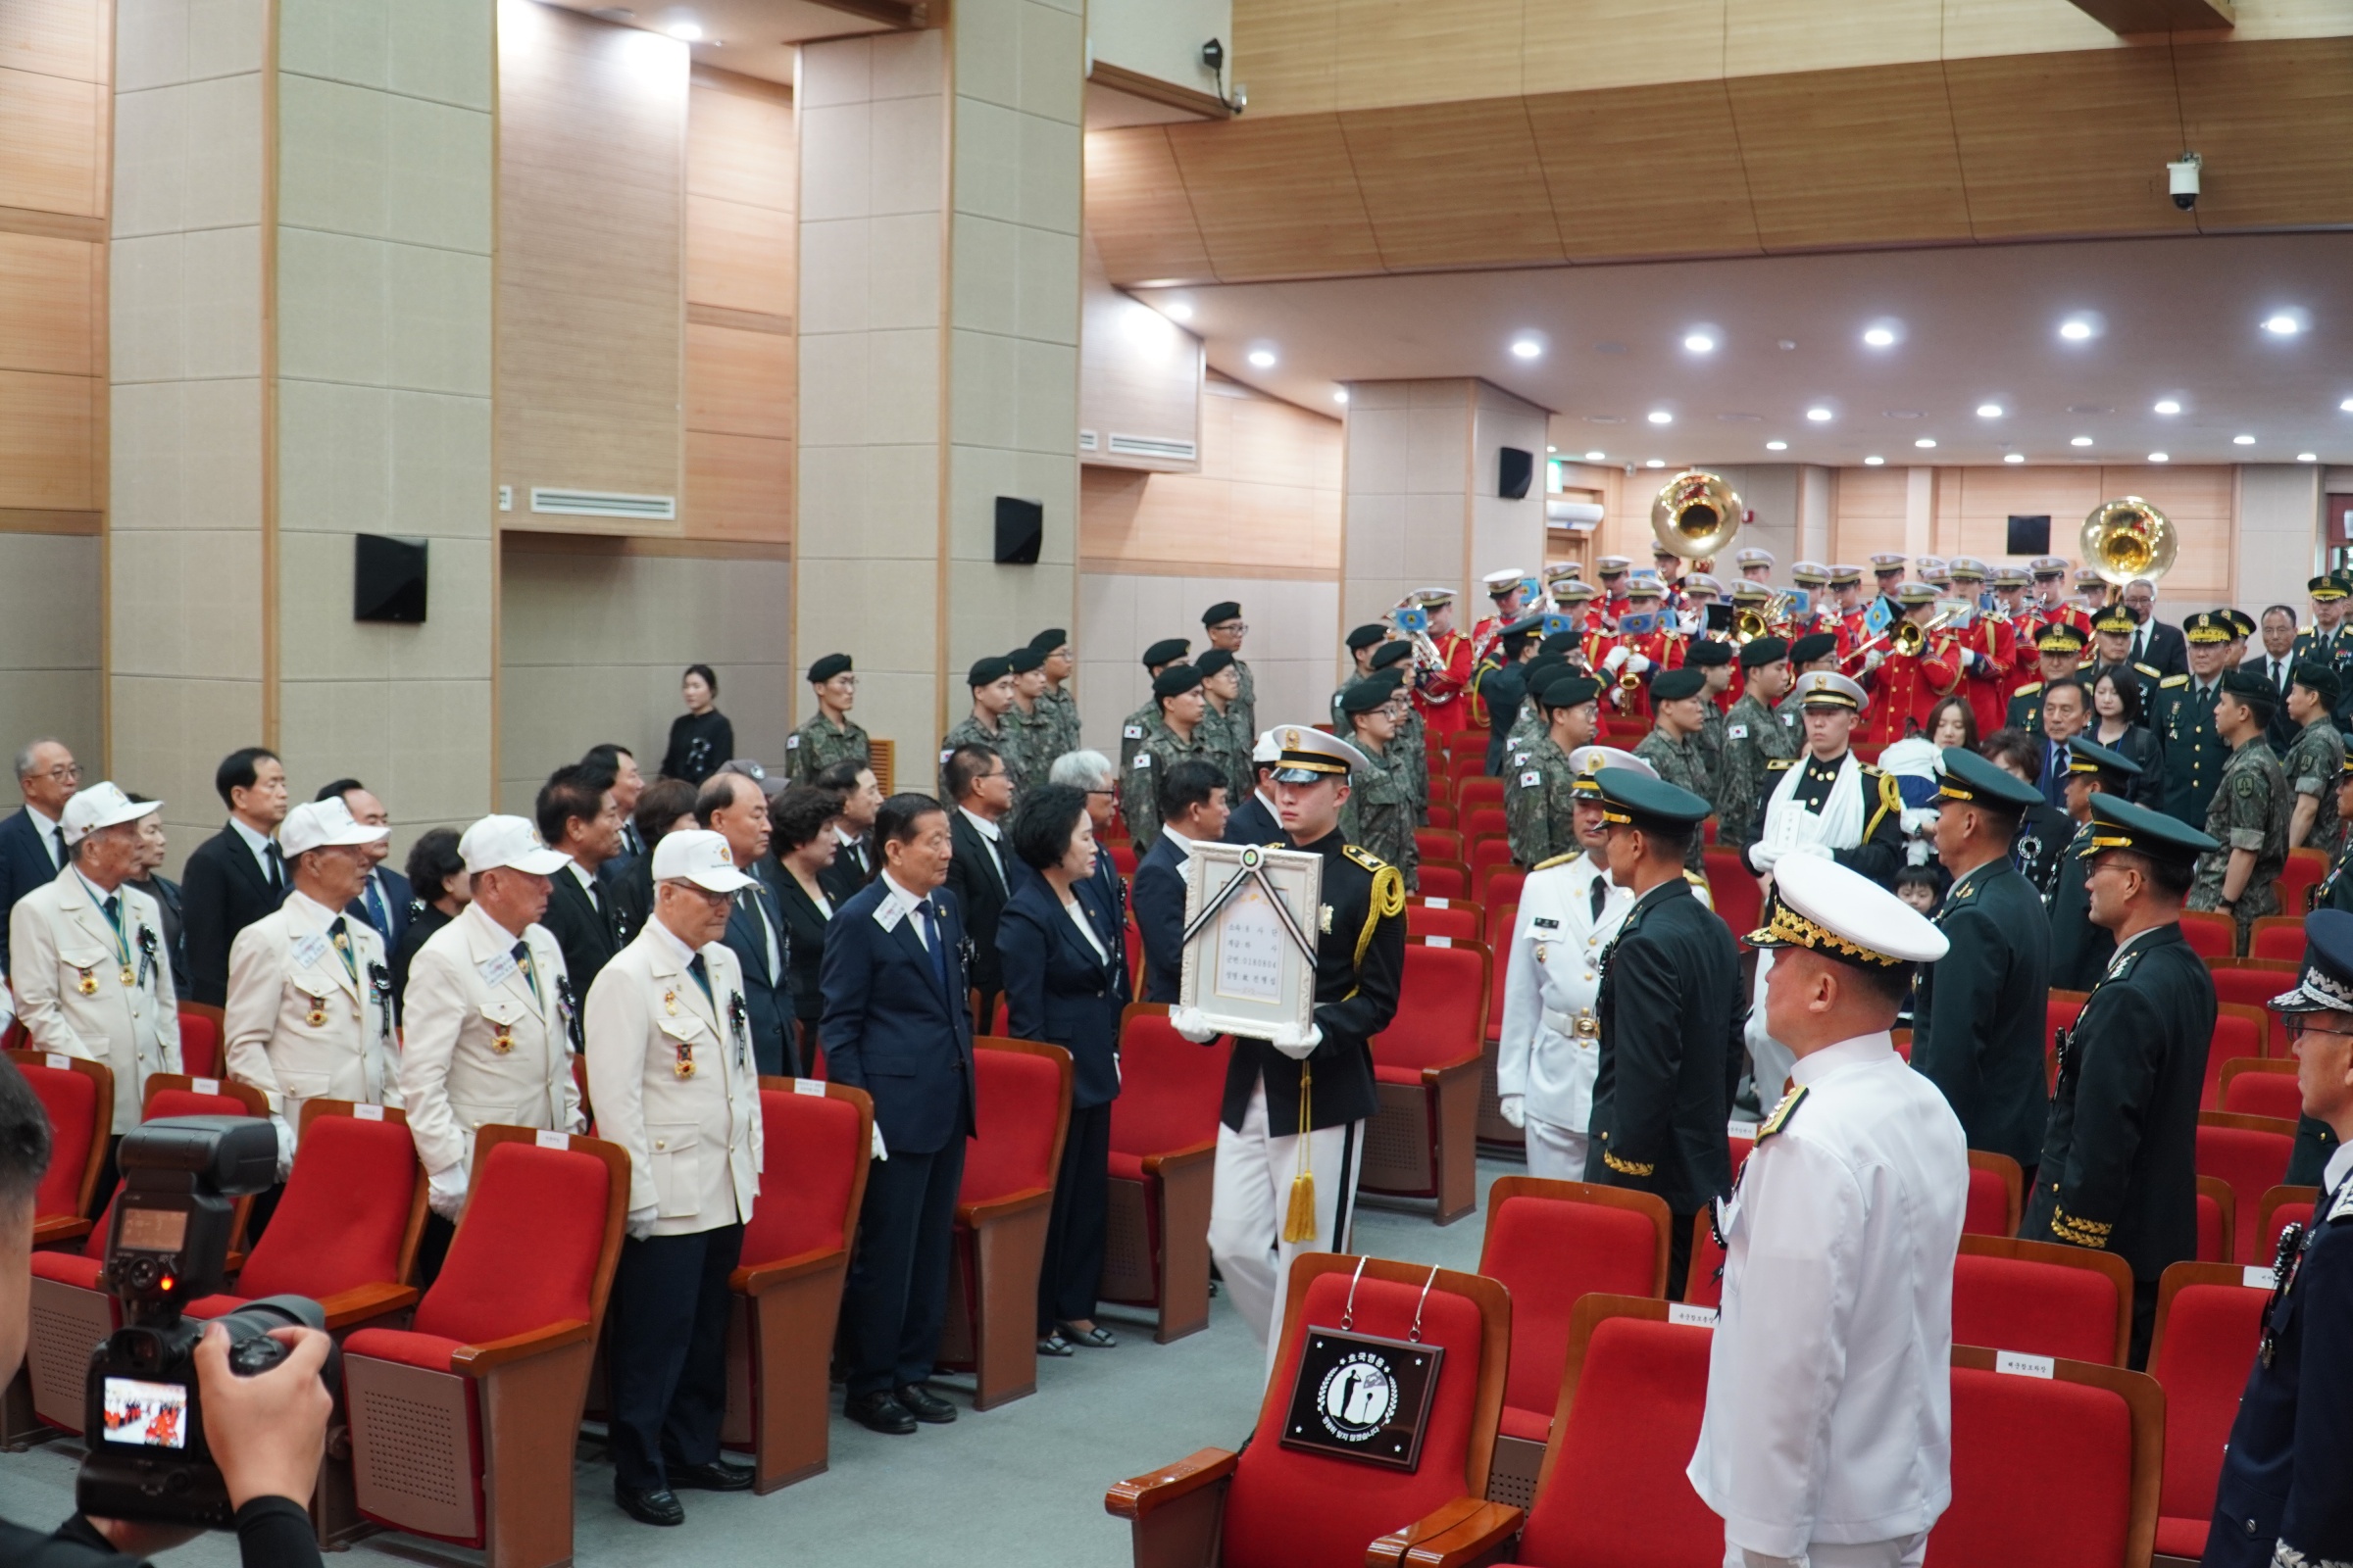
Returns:
[[[2195,233],[2165,195],[2181,155],[2167,49],[1944,66],[1979,240]]]

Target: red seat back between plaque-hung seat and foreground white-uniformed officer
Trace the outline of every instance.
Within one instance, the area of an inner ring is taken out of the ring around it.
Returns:
[[[1527,1514],[1522,1563],[1713,1568],[1725,1521],[1685,1467],[1708,1403],[1711,1328],[1612,1316],[1593,1326],[1553,1474]]]

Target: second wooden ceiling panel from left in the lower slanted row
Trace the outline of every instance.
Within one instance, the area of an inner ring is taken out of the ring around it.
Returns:
[[[1219,277],[1318,277],[1381,266],[1339,118],[1172,125],[1169,148]],[[1104,256],[1111,266],[1111,254]],[[1113,266],[1113,277],[1120,268]]]

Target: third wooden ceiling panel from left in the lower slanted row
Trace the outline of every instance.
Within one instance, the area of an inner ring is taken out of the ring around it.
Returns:
[[[1348,113],[1341,134],[1393,270],[1567,259],[1525,99]]]

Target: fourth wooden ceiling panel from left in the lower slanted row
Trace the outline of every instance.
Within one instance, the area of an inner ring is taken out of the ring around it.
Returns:
[[[1758,249],[1720,82],[1555,92],[1527,120],[1572,261]]]

